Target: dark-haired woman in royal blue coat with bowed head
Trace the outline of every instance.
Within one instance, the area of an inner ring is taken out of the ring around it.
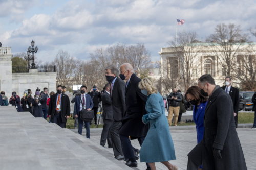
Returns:
[[[204,111],[207,105],[207,98],[201,94],[198,86],[189,87],[186,91],[185,98],[194,106],[193,119],[196,123],[197,142],[199,143],[204,136]]]

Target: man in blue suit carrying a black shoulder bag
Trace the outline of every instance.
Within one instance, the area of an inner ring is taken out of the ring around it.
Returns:
[[[80,87],[80,95],[75,97],[75,106],[74,106],[74,116],[78,118],[78,133],[82,135],[82,126],[83,122],[86,124],[86,138],[90,139],[90,121],[83,121],[80,118],[80,113],[83,107],[85,107],[88,111],[93,108],[93,101],[89,94],[86,94],[87,87]]]

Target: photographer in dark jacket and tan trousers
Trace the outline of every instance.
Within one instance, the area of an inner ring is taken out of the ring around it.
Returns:
[[[177,92],[177,88],[173,89],[173,92],[167,98],[169,104],[169,114],[168,122],[169,126],[172,125],[172,119],[174,114],[174,126],[177,126],[178,116],[180,112],[180,102],[182,101],[182,96]]]

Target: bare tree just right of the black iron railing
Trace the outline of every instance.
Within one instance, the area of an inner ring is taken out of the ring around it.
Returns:
[[[73,77],[74,59],[69,55],[68,52],[60,50],[53,63],[56,65],[57,81],[59,85],[70,86],[70,80]]]

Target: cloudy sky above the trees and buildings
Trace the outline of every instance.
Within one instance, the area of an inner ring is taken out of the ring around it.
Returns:
[[[222,22],[248,32],[255,16],[254,0],[0,0],[0,42],[15,54],[33,39],[41,61],[59,50],[87,60],[97,48],[144,43],[158,61],[160,48],[175,38],[176,19],[185,19],[178,32],[196,31],[204,40]]]

